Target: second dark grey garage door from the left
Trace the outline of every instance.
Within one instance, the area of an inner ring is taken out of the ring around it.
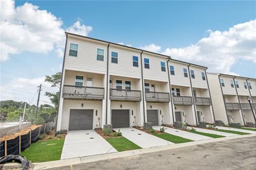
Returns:
[[[129,128],[129,110],[112,110],[111,124],[113,125],[113,128]]]

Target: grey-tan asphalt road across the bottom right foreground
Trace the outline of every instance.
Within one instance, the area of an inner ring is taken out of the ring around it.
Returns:
[[[256,137],[101,160],[59,169],[256,169]]]

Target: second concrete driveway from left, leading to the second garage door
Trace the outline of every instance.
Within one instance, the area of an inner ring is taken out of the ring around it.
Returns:
[[[133,143],[140,146],[141,148],[149,148],[154,146],[165,146],[165,145],[174,144],[135,128],[116,128],[114,130],[118,131],[119,129],[123,137],[127,138],[129,141],[132,141]]]

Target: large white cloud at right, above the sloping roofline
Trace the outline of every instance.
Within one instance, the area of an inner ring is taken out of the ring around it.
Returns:
[[[184,48],[167,48],[162,54],[209,67],[208,71],[230,73],[240,59],[256,63],[256,20],[234,25],[228,31],[208,30],[209,36]]]

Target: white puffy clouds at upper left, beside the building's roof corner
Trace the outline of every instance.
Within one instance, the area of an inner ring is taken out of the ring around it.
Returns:
[[[1,61],[10,54],[22,52],[48,53],[54,50],[63,57],[65,42],[62,20],[39,6],[24,3],[15,7],[12,0],[1,1]],[[75,22],[70,32],[87,35],[92,27]]]

